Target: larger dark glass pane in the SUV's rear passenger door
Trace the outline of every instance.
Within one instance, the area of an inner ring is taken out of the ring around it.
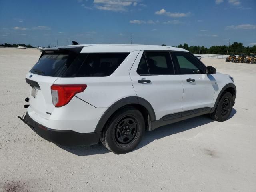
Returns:
[[[150,74],[174,74],[169,52],[146,52]]]

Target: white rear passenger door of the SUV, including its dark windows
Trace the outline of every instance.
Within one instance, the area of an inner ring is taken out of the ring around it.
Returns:
[[[137,96],[154,108],[156,120],[182,111],[182,79],[174,71],[169,52],[140,51],[130,77]]]

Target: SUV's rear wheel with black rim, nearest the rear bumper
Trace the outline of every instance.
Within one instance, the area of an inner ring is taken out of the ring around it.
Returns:
[[[145,121],[139,110],[122,108],[107,122],[100,141],[110,151],[124,154],[132,151],[145,132]]]

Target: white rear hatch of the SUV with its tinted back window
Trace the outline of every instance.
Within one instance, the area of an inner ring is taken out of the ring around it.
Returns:
[[[42,118],[48,119],[54,110],[51,86],[62,76],[78,53],[70,50],[43,52],[38,62],[26,75],[30,85],[30,110]]]

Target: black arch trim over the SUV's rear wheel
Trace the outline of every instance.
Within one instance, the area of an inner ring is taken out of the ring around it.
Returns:
[[[108,119],[118,109],[122,108],[123,106],[129,105],[129,104],[139,104],[139,105],[143,106],[148,111],[150,120],[151,121],[156,120],[156,115],[155,115],[154,109],[153,109],[152,105],[147,100],[145,100],[144,98],[141,98],[141,97],[137,97],[137,96],[130,96],[130,97],[122,98],[122,99],[118,100],[117,102],[115,102],[114,104],[112,104],[101,116],[94,132],[102,131],[102,129],[104,128]]]

